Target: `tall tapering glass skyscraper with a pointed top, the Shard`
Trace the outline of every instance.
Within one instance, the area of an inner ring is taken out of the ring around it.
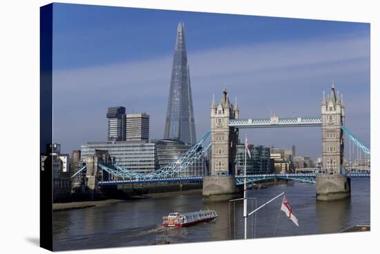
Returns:
[[[175,41],[164,139],[176,139],[186,144],[196,144],[189,64],[187,63],[182,22],[178,24],[177,40]]]

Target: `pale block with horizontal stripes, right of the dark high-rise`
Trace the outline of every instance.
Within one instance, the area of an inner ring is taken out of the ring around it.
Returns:
[[[149,115],[126,114],[126,141],[149,140]]]

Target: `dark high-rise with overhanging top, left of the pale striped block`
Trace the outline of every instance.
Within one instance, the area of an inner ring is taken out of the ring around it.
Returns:
[[[125,108],[122,106],[108,108],[108,141],[125,140]]]

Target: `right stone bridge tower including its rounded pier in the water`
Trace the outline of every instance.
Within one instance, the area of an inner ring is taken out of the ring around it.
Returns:
[[[344,154],[345,108],[343,98],[335,92],[332,83],[330,96],[323,98],[321,104],[322,120],[322,168],[325,174],[316,176],[316,199],[329,201],[350,197],[350,178],[342,173]]]

